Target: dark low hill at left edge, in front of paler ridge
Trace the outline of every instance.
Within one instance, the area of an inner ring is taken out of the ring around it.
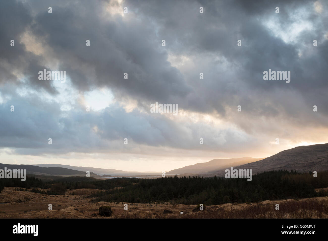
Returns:
[[[85,171],[76,171],[72,169],[62,167],[38,167],[33,165],[10,165],[0,163],[0,169],[26,169],[27,174],[36,175],[54,175],[54,176],[85,176]],[[90,176],[97,176],[93,172],[90,172]]]

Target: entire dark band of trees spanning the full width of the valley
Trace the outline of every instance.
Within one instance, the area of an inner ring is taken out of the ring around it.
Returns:
[[[4,181],[5,180],[5,181]],[[224,177],[165,177],[156,179],[113,178],[97,180],[92,177],[65,177],[42,181],[27,177],[25,182],[18,179],[2,179],[6,187],[33,188],[32,191],[46,194],[64,194],[67,189],[99,189],[91,197],[94,202],[175,202],[181,204],[207,205],[260,202],[263,200],[306,198],[328,195],[315,188],[328,187],[328,171],[318,173],[297,173],[296,171],[269,171],[247,179],[226,179]],[[1,184],[0,184],[1,185]],[[41,191],[40,189],[49,189]],[[105,190],[105,191],[100,191]]]

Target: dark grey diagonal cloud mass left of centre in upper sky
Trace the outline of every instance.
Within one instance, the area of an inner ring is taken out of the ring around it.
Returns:
[[[99,19],[101,8],[89,1],[74,2],[65,9],[53,7],[51,17],[48,12],[38,14],[31,28],[36,36],[45,38],[78,89],[107,86],[151,100],[183,97],[191,91],[160,49],[161,39],[156,37],[154,26],[133,19],[123,21],[119,15],[104,22]],[[91,41],[88,48],[87,39]],[[74,68],[76,64],[88,66],[96,78]],[[128,79],[123,79],[125,72]]]

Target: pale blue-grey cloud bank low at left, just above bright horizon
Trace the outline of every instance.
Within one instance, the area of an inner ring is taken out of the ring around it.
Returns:
[[[186,150],[235,148],[231,145],[236,138],[233,130],[215,130],[202,123],[180,125],[159,113],[126,113],[115,105],[99,112],[75,106],[63,113],[56,102],[15,96],[0,107],[0,147],[16,149],[19,154],[122,151],[138,145]],[[124,138],[131,144],[123,145]],[[199,138],[204,138],[206,145],[200,145]],[[253,145],[251,137],[245,138],[235,144],[243,143],[244,148]]]

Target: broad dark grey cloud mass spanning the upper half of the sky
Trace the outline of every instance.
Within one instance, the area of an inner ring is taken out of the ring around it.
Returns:
[[[33,23],[29,16],[30,25],[33,34],[44,38],[52,48],[54,56],[50,57],[60,61],[60,68],[67,70],[79,90],[107,86],[117,95],[142,98],[147,102],[179,103],[181,108],[189,110],[216,110],[224,114],[224,105],[232,106],[236,102],[234,95],[243,98],[246,91],[255,90],[256,94],[262,89],[290,88],[307,92],[314,84],[321,90],[326,87],[327,41],[320,46],[323,51],[315,50],[318,55],[312,59],[299,59],[297,44],[284,43],[262,25],[267,18],[276,17],[275,7],[279,6],[278,23],[288,27],[292,23],[293,9],[302,5],[313,8],[314,1],[125,1],[122,6],[128,6],[131,14],[125,17],[116,14],[106,20],[101,19],[104,1],[75,1],[65,7],[63,3],[52,3],[56,4],[51,4],[52,14],[47,11],[49,4],[43,3],[42,11],[37,8]],[[40,2],[30,4],[33,9]],[[204,7],[204,14],[199,14],[199,6]],[[312,18],[315,20],[320,16]],[[86,39],[91,40],[88,48]],[[166,40],[166,47],[161,46],[162,39]],[[242,47],[236,46],[237,39],[242,40]],[[309,44],[312,40],[307,39]],[[170,66],[166,50],[174,54],[205,51],[223,56],[232,65],[230,71],[234,73],[224,73],[213,63],[197,66],[197,71],[190,70],[185,78]],[[26,59],[37,62],[31,56]],[[29,67],[25,70],[33,70],[33,73],[43,70],[39,65]],[[268,69],[290,70],[291,84],[263,81],[263,71]],[[96,78],[90,72],[94,72]],[[125,72],[129,74],[128,79],[123,79]],[[192,76],[199,77],[199,72],[204,72],[206,78],[193,81]],[[38,82],[35,77],[34,74],[31,80]],[[313,80],[309,81],[309,77]],[[51,90],[47,82],[41,83]],[[242,89],[237,90],[232,84]],[[208,94],[214,90],[220,95]]]

